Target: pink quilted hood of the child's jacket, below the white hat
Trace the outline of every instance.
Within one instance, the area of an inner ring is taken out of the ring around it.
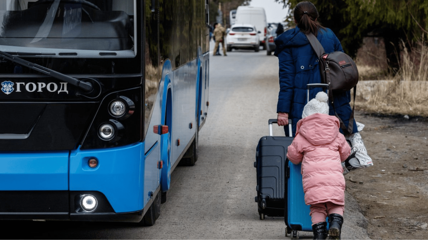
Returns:
[[[309,143],[318,146],[331,143],[339,134],[340,123],[336,116],[316,113],[297,122],[297,132]]]

